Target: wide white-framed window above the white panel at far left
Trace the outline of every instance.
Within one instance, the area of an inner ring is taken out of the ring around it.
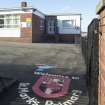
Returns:
[[[17,28],[20,26],[20,16],[0,15],[0,28]]]

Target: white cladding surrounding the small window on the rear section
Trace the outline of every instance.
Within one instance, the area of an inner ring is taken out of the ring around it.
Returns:
[[[64,27],[63,21],[73,21],[72,27]],[[80,34],[81,15],[57,16],[59,34]]]

